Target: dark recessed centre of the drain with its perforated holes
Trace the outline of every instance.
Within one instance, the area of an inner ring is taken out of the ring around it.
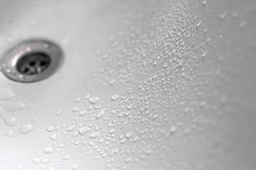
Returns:
[[[30,53],[20,57],[16,68],[21,74],[35,75],[46,70],[51,63],[51,58],[45,53]]]

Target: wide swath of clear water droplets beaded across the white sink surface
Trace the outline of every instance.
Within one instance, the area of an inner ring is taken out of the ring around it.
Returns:
[[[71,169],[86,169],[83,161],[88,158],[93,158],[95,166],[109,169],[184,167],[169,162],[175,160],[172,153],[177,155],[198,137],[198,131],[204,132],[207,128],[202,124],[212,123],[202,116],[205,110],[217,110],[227,101],[226,96],[212,104],[204,100],[220,96],[216,91],[204,93],[212,87],[207,77],[220,74],[210,67],[215,59],[210,58],[208,64],[204,60],[212,43],[204,24],[206,17],[201,15],[208,4],[166,1],[161,10],[143,11],[148,13],[143,21],[136,16],[126,18],[131,29],[121,35],[127,41],[118,43],[115,37],[107,40],[110,49],[101,49],[95,55],[106,52],[101,57],[111,64],[92,70],[90,81],[126,89],[104,96],[78,95],[72,107],[63,106],[44,120],[34,117],[21,124],[19,118],[4,115],[4,123],[15,127],[5,136],[37,134],[28,147],[38,156],[24,160],[41,169],[55,170],[64,164]],[[226,16],[224,12],[220,19]],[[131,23],[137,20],[144,25],[133,27]],[[240,27],[244,25],[242,22]],[[0,105],[10,112],[25,108],[8,89],[0,89]],[[46,122],[42,129],[33,125],[42,122]]]

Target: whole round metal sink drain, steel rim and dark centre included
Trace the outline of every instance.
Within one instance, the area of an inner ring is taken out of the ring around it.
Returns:
[[[56,44],[41,39],[24,41],[10,49],[2,60],[6,77],[19,82],[34,82],[53,74],[62,63]]]

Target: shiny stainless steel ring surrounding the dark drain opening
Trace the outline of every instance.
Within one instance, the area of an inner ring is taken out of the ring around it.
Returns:
[[[29,75],[21,73],[17,68],[20,60],[28,55],[38,53],[45,54],[50,58],[48,67],[36,74]],[[14,46],[4,55],[2,60],[2,71],[7,78],[13,81],[35,82],[43,80],[55,73],[62,62],[63,54],[57,44],[44,39],[30,39]]]

